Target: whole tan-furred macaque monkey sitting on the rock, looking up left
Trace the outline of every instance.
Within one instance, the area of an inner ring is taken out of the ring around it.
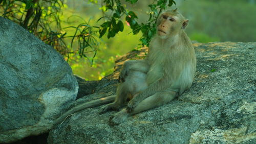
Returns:
[[[148,55],[144,60],[124,63],[119,76],[119,85],[114,97],[93,101],[74,107],[63,117],[83,108],[110,103],[100,113],[119,110],[127,98],[132,98],[127,107],[110,117],[110,124],[120,124],[133,114],[161,106],[172,101],[193,83],[196,71],[194,47],[183,31],[188,25],[176,10],[166,10],[157,19],[157,34],[153,37]]]

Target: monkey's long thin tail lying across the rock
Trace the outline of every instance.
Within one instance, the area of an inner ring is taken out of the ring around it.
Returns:
[[[86,109],[86,108],[93,108],[93,107],[97,107],[97,106],[101,106],[101,105],[104,105],[104,104],[114,102],[115,98],[116,98],[116,95],[111,95],[109,97],[105,97],[105,98],[101,98],[101,99],[98,99],[98,100],[93,100],[91,102],[87,102],[87,103],[77,105],[77,106],[71,108],[70,110],[68,110],[67,112],[63,113],[60,117],[58,117],[56,119],[56,121],[54,122],[54,125],[61,123],[68,116],[74,114],[75,112],[78,112],[78,111]]]

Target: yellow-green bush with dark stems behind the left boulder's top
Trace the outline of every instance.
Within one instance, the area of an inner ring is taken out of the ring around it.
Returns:
[[[61,9],[66,7],[63,1],[0,0],[0,14],[52,45],[61,54],[66,54],[67,46],[63,40],[66,33],[61,31],[60,18]]]

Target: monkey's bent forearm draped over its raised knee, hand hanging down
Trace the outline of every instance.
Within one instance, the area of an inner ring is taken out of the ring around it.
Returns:
[[[147,73],[150,65],[147,63],[146,60],[130,60],[126,61],[121,69],[118,81],[124,82],[125,77],[129,75],[131,70],[141,71],[142,73]]]

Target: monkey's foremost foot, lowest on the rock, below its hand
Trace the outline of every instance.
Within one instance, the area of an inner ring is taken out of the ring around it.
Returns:
[[[111,115],[110,119],[109,119],[109,125],[114,126],[114,125],[119,125],[119,124],[125,122],[128,115],[129,114],[127,114],[125,109]]]

